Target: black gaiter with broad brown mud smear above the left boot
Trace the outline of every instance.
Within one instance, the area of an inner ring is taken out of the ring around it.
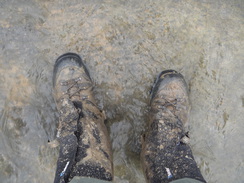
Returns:
[[[73,103],[63,102],[60,116],[60,152],[54,183],[73,177],[113,179],[112,155],[104,117],[94,106],[79,113]],[[93,108],[94,107],[94,108]],[[99,113],[98,113],[99,112]]]

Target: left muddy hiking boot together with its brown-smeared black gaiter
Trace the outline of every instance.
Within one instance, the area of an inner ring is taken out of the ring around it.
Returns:
[[[77,177],[113,179],[112,152],[105,115],[93,96],[93,83],[79,55],[60,56],[54,66],[54,98],[59,111],[60,144],[55,183]]]

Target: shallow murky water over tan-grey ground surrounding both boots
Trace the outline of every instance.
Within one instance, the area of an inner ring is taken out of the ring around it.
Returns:
[[[107,114],[115,182],[143,183],[140,135],[164,69],[189,85],[191,147],[208,182],[244,181],[242,0],[1,0],[0,180],[53,181],[55,59],[79,53]]]

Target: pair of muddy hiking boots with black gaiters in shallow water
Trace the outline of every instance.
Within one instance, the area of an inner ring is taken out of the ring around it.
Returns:
[[[105,115],[96,104],[92,80],[79,55],[67,53],[57,59],[53,87],[60,113],[60,152],[54,182],[87,177],[91,182],[112,181],[112,151]],[[183,126],[189,100],[183,76],[173,70],[160,73],[150,105],[149,130],[143,137],[141,152],[147,182],[185,177],[205,182],[185,142]]]

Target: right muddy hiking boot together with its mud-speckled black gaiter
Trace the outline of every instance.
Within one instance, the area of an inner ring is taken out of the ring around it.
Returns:
[[[144,136],[141,160],[150,183],[192,178],[205,182],[186,144],[184,124],[189,111],[188,91],[176,71],[160,73],[152,90],[148,133]]]

